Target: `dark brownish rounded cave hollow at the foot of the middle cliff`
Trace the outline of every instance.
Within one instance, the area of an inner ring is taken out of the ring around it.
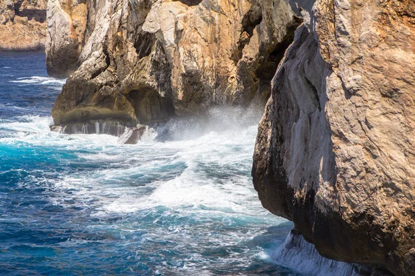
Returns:
[[[149,86],[140,86],[131,90],[127,94],[127,99],[133,106],[140,124],[165,121],[174,115],[172,100],[161,97],[154,88]]]

